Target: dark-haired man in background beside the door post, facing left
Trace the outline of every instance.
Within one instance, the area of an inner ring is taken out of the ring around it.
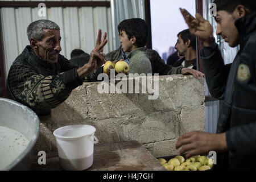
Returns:
[[[177,43],[175,49],[180,56],[184,56],[176,61],[172,66],[196,69],[196,38],[191,35],[189,29],[183,30],[177,34]]]

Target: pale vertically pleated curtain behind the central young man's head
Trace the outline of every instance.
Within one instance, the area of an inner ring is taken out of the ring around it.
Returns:
[[[118,38],[118,24],[130,18],[145,19],[144,0],[111,0],[113,47],[120,46]]]

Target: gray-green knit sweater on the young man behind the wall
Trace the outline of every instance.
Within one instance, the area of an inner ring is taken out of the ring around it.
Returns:
[[[152,73],[151,62],[143,47],[134,49],[127,56],[129,58],[129,73]]]

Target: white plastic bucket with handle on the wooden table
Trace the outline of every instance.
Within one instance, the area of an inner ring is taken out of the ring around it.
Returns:
[[[90,125],[64,126],[53,131],[61,168],[81,171],[92,166],[93,147],[98,143],[95,131]]]

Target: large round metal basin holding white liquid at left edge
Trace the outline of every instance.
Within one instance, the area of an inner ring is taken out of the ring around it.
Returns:
[[[27,106],[0,98],[0,170],[29,170],[40,121]]]

